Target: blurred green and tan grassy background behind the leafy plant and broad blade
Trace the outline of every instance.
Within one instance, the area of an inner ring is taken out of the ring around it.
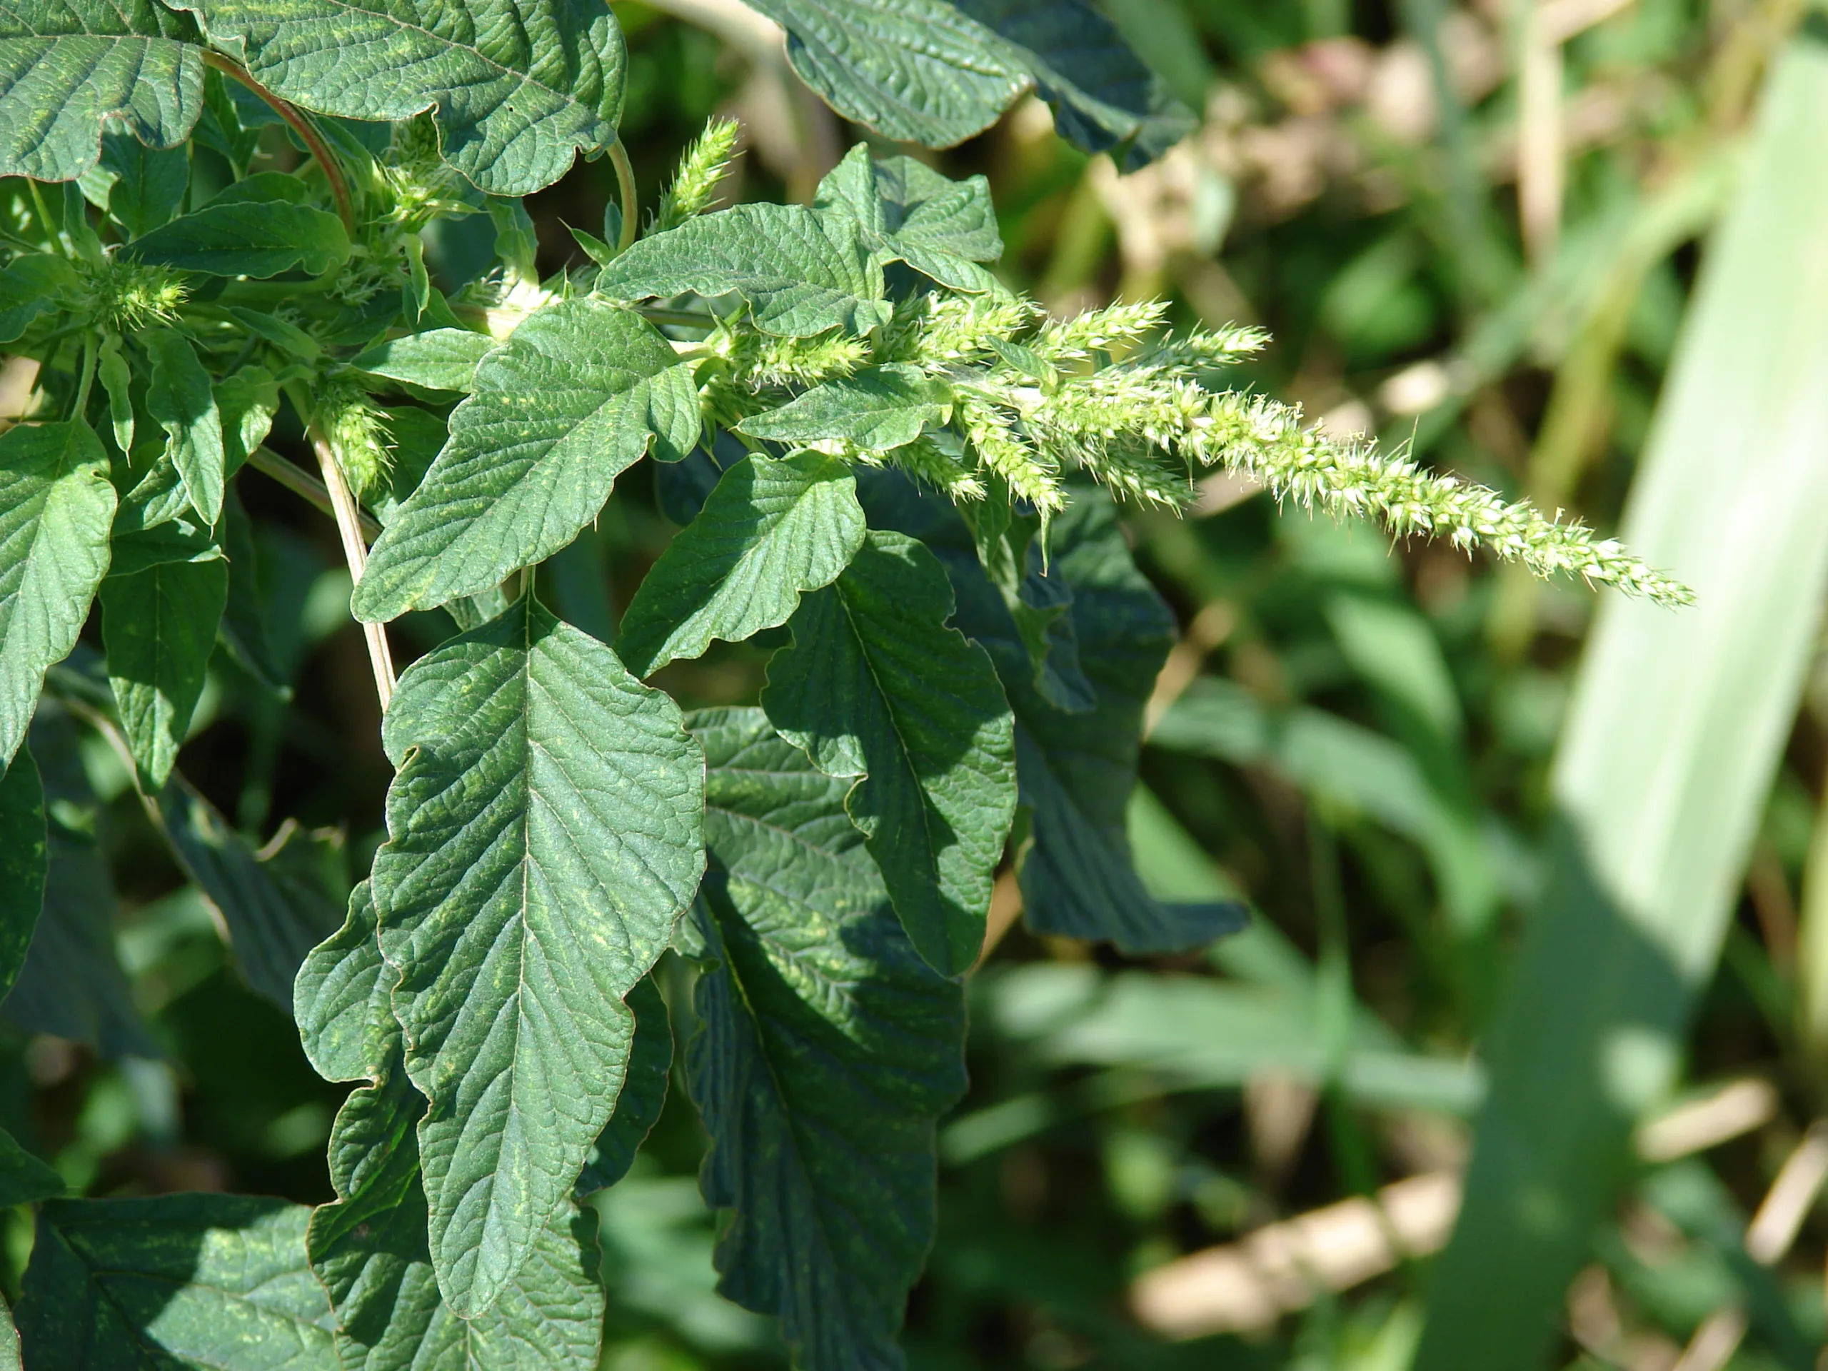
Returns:
[[[951,175],[989,175],[1004,278],[1064,313],[1161,294],[1181,324],[1261,324],[1274,344],[1247,384],[1614,528],[1704,243],[1744,188],[1760,91],[1806,27],[1804,5],[1104,7],[1201,126],[1128,177],[1058,141],[1035,102],[936,155]],[[746,128],[729,199],[808,199],[857,137],[740,5],[614,9],[631,48],[623,137],[647,199],[711,113]],[[1791,172],[1819,185],[1828,130],[1813,146]],[[581,165],[528,203],[543,272],[581,261],[567,225],[598,230],[611,192],[605,165]],[[1828,219],[1813,234],[1828,239]],[[431,256],[462,276],[479,247],[486,236],[459,230]],[[1821,282],[1812,289],[1828,311]],[[1707,324],[1726,355],[1760,327],[1746,311]],[[1828,375],[1812,384],[1828,391]],[[1828,461],[1821,439],[1813,452]],[[1724,452],[1685,481],[1706,494],[1733,477]],[[347,574],[327,521],[243,484],[292,698],[219,653],[185,773],[260,843],[296,821],[292,859],[347,881],[380,841],[388,781]],[[1128,526],[1181,623],[1132,797],[1139,866],[1157,894],[1236,894],[1256,918],[1206,954],[1130,963],[1029,936],[1015,881],[1000,883],[971,982],[972,1088],[941,1132],[940,1241],[910,1305],[909,1358],[1400,1371],[1486,1095],[1477,1049],[1506,1013],[1512,1057],[1557,1033],[1530,1018],[1552,998],[1506,1000],[1506,982],[1541,892],[1559,888],[1552,759],[1598,598],[1444,545],[1387,547],[1227,477],[1188,517]],[[541,569],[545,592],[611,638],[671,532],[636,472]],[[1731,558],[1770,552],[1759,528],[1709,536],[1737,539]],[[1680,548],[1649,550],[1684,572]],[[1755,799],[1700,819],[1746,841],[1716,863],[1718,929],[1698,938],[1671,1009],[1680,1075],[1632,1121],[1634,1155],[1616,1190],[1600,1188],[1578,1259],[1545,1267],[1552,1307],[1530,1314],[1530,1338],[1556,1366],[1813,1367],[1828,1336],[1828,1137],[1812,1122],[1828,1084],[1828,660],[1819,576],[1777,579],[1771,612],[1806,638],[1801,684],[1759,706],[1777,720],[1771,764],[1760,753],[1738,790],[1718,782]],[[397,651],[409,658],[444,631],[409,620]],[[665,686],[687,706],[751,700],[764,660],[731,647],[669,667]],[[1667,682],[1640,669],[1632,689],[1654,704]],[[84,1015],[73,994],[68,1036],[9,1033],[0,1124],[88,1194],[329,1199],[322,1153],[344,1088],[311,1073],[292,1026],[228,965],[121,762],[75,739],[51,709],[33,746],[58,841],[99,845],[106,861],[84,879],[112,874],[119,918],[68,936],[113,941],[135,1015]],[[1713,793],[1716,781],[1691,770],[1665,784]],[[1603,971],[1567,965],[1568,985],[1625,994]],[[687,1002],[671,998],[689,1033]],[[1548,1115],[1557,1088],[1534,1086]],[[1570,1086],[1570,1111],[1578,1095]],[[634,1174],[598,1199],[607,1369],[779,1366],[760,1322],[715,1294],[700,1150],[675,1100]],[[1590,1166],[1610,1175],[1614,1161]],[[4,1225],[11,1298],[29,1230],[20,1214]],[[1437,1347],[1433,1364],[1501,1360]]]

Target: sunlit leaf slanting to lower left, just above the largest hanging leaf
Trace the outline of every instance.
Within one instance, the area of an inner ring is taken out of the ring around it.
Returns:
[[[653,442],[698,441],[691,366],[632,311],[563,300],[483,358],[450,442],[375,543],[355,594],[391,620],[488,590],[570,543]]]

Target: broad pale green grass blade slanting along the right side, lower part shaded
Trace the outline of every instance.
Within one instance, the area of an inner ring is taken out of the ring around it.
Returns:
[[[1545,1364],[1731,923],[1828,585],[1828,181],[1799,174],[1824,159],[1828,42],[1804,26],[1768,77],[1621,528],[1695,605],[1607,596],[1587,643],[1420,1371]]]

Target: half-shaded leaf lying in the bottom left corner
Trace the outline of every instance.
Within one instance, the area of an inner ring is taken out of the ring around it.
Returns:
[[[311,1208],[260,1196],[49,1199],[18,1303],[33,1371],[336,1371]]]

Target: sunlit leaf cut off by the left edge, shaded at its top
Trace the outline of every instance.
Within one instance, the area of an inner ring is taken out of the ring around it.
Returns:
[[[115,490],[80,419],[0,433],[0,762],[11,762],[48,667],[77,645],[102,572]]]

